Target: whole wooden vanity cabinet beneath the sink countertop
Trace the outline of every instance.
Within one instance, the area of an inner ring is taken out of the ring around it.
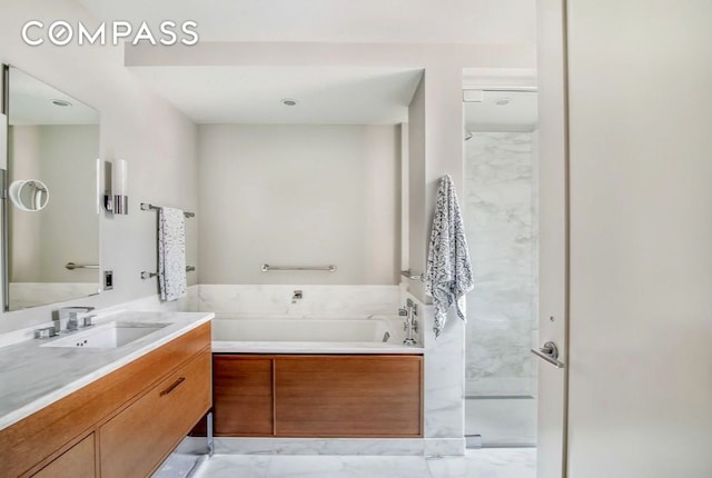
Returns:
[[[149,477],[211,407],[210,340],[198,326],[0,430],[0,474]]]

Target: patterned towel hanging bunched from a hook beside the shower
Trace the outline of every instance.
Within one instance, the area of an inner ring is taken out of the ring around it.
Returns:
[[[465,317],[465,295],[473,289],[469,250],[457,205],[455,185],[449,175],[441,179],[433,218],[433,232],[425,270],[425,291],[433,296],[435,337],[443,332],[447,309],[455,303],[457,316]]]

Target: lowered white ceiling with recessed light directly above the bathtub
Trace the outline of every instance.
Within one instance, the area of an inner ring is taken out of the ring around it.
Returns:
[[[198,123],[394,125],[407,121],[422,76],[403,68],[130,69]]]

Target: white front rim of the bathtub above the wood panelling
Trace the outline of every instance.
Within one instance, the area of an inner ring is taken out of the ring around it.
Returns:
[[[389,342],[212,341],[215,353],[416,353],[422,347]]]

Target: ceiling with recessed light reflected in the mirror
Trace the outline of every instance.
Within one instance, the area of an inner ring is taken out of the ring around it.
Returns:
[[[27,74],[10,68],[10,125],[98,125],[99,112],[76,98],[65,94]],[[57,106],[53,101],[68,102]]]

